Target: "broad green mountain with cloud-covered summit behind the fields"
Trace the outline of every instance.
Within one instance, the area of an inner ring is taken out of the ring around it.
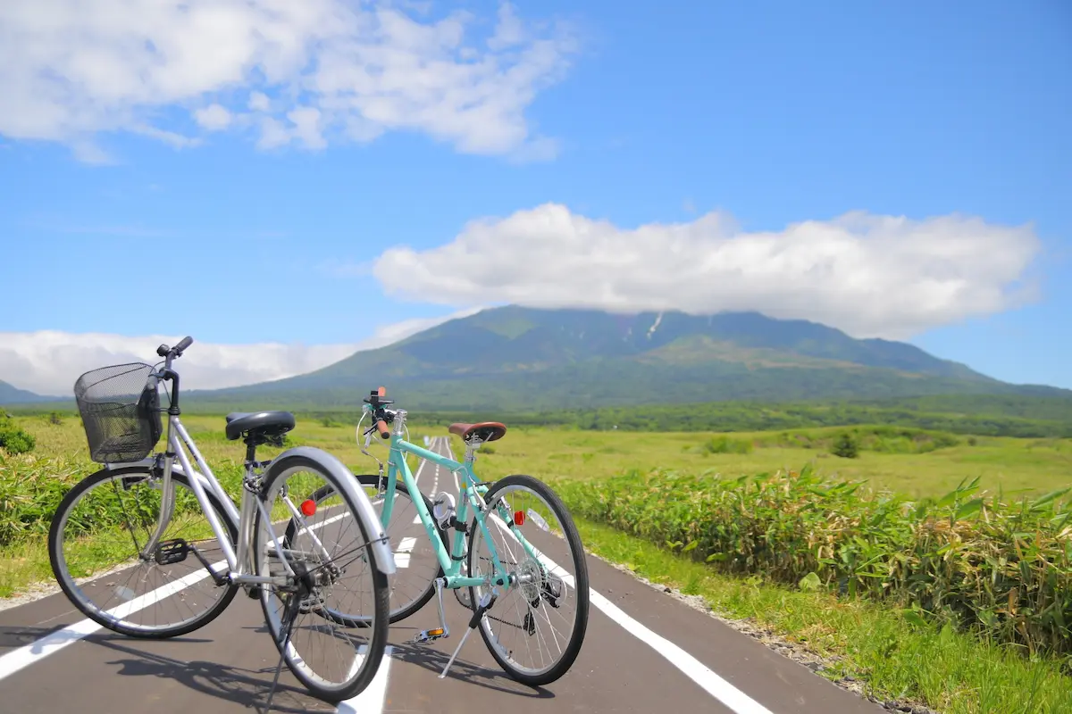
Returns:
[[[297,377],[185,391],[191,406],[353,407],[384,384],[408,409],[500,412],[656,402],[1055,394],[911,345],[758,313],[614,315],[497,307]]]

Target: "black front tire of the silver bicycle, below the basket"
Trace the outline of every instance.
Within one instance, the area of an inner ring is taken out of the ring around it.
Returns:
[[[48,529],[48,560],[53,568],[53,576],[59,583],[60,590],[62,590],[63,594],[66,595],[69,601],[71,601],[71,604],[74,605],[79,612],[81,612],[87,618],[98,623],[102,627],[110,629],[111,632],[115,633],[119,633],[120,635],[126,635],[128,637],[135,637],[139,639],[167,639],[170,637],[179,637],[181,635],[187,635],[189,633],[192,633],[195,629],[199,629],[200,627],[204,627],[205,625],[207,625],[208,623],[212,622],[218,617],[220,617],[220,614],[225,609],[227,609],[227,606],[230,604],[230,601],[235,598],[235,595],[237,594],[239,587],[234,583],[222,586],[226,588],[226,592],[224,592],[223,596],[220,599],[218,599],[214,605],[208,608],[203,614],[185,623],[175,625],[172,627],[164,626],[152,629],[133,627],[122,624],[121,622],[118,622],[114,619],[103,617],[101,614],[100,608],[92,608],[87,606],[87,604],[84,603],[81,598],[76,595],[72,587],[74,586],[74,578],[71,576],[70,573],[68,573],[65,567],[66,559],[60,551],[60,546],[61,546],[60,531],[70,516],[68,512],[70,511],[71,506],[78,501],[78,499],[81,497],[83,493],[88,491],[90,488],[93,488],[98,484],[106,481],[111,481],[116,478],[125,480],[125,477],[133,475],[142,475],[142,474],[144,474],[147,477],[152,475],[152,468],[143,465],[118,467],[118,468],[104,468],[101,469],[100,471],[89,474],[88,476],[79,481],[77,484],[75,484],[75,486],[71,490],[69,490],[66,495],[64,495],[63,499],[60,501],[59,506],[56,508],[56,513],[53,515],[53,522]],[[172,481],[175,482],[177,485],[182,485],[185,486],[187,488],[190,488],[191,492],[193,491],[193,488],[190,486],[190,480],[184,474],[173,471]],[[227,534],[230,537],[232,545],[234,546],[234,544],[238,540],[237,528],[235,527],[234,523],[230,522],[230,519],[227,518],[226,512],[223,510],[223,506],[220,504],[220,501],[215,497],[215,495],[212,493],[211,491],[206,491],[206,496],[208,496],[209,503],[212,505],[212,508],[215,510],[217,514],[219,515],[220,521],[224,525],[224,528],[227,529]],[[206,571],[206,577],[209,577],[208,571]]]

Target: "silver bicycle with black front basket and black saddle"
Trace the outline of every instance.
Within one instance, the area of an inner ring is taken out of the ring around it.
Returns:
[[[244,468],[221,470],[240,491],[236,507],[179,419],[173,362],[192,343],[161,345],[160,369],[117,365],[75,382],[90,457],[104,467],[76,484],[53,518],[53,573],[86,617],[140,638],[204,627],[243,588],[259,598],[280,652],[272,693],[285,660],[317,698],[352,698],[372,681],[387,643],[394,559],[384,528],[331,454],[297,446],[256,459],[257,446],[282,446],[294,428],[283,411],[226,416],[226,438],[245,444]],[[164,411],[167,449],[150,456]],[[330,500],[302,496],[323,488]],[[370,617],[340,623],[326,614],[353,607]]]

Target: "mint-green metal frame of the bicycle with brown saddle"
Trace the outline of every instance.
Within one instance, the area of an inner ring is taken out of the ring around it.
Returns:
[[[491,535],[488,532],[488,526],[485,521],[485,511],[488,504],[483,500],[483,495],[488,492],[488,486],[480,484],[477,481],[476,475],[473,473],[472,452],[466,455],[464,461],[457,461],[447,456],[441,456],[435,452],[418,446],[417,444],[402,438],[404,422],[405,412],[399,410],[398,416],[396,417],[394,430],[391,434],[389,442],[390,454],[388,456],[387,486],[384,493],[384,508],[381,515],[381,522],[383,523],[383,527],[385,529],[387,528],[387,523],[391,517],[391,511],[394,506],[394,492],[398,485],[398,474],[402,474],[402,481],[410,489],[410,493],[415,495],[420,492],[413,472],[410,469],[410,465],[405,460],[406,454],[413,454],[418,458],[442,466],[448,471],[460,473],[462,476],[462,487],[461,492],[459,493],[457,513],[455,514],[455,517],[459,522],[465,523],[468,519],[468,511],[471,507],[473,508],[477,526],[480,528],[480,531],[488,543],[488,547],[491,550],[494,572],[498,574],[497,577],[490,578],[490,584],[493,589],[495,586],[509,586],[509,578],[505,575],[506,571],[503,567],[502,562],[500,562],[498,551],[491,540]],[[383,469],[381,469],[381,474],[383,474]],[[461,575],[462,563],[464,562],[466,555],[466,533],[456,528],[453,532],[453,544],[448,550],[447,546],[443,543],[443,538],[441,537],[438,530],[436,530],[435,519],[432,517],[428,506],[425,504],[425,499],[415,497],[413,498],[413,502],[417,508],[417,515],[420,518],[420,522],[425,527],[425,532],[428,534],[428,537],[432,543],[432,547],[435,550],[435,557],[440,561],[440,565],[443,567],[445,587],[457,589],[489,584],[489,578]],[[521,546],[530,556],[533,558],[538,557],[538,551],[535,551],[533,546],[528,544],[527,540],[524,535],[522,535],[517,526],[512,526],[511,523],[510,532],[516,538],[518,538]]]

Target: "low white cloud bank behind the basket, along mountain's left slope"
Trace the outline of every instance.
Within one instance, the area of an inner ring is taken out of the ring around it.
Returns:
[[[465,309],[445,317],[415,318],[381,325],[352,344],[302,345],[258,343],[220,345],[195,341],[176,363],[182,388],[210,390],[254,384],[301,375],[338,362],[359,350],[390,345],[447,320],[476,313]],[[72,396],[78,376],[111,364],[155,364],[157,346],[174,345],[183,335],[130,337],[107,333],[0,332],[0,379],[38,394]]]

